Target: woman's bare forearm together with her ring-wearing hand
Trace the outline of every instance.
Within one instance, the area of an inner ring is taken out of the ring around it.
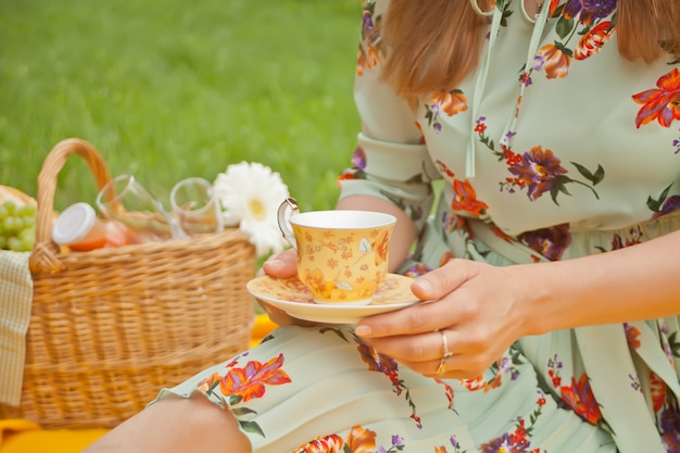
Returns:
[[[380,352],[435,375],[443,330],[450,378],[474,378],[518,338],[594,324],[680,314],[680,231],[599,255],[492,266],[453,260],[413,291],[433,300],[363,319],[356,334]]]

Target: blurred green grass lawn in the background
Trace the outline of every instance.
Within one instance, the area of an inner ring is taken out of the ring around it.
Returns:
[[[357,0],[0,2],[0,184],[36,196],[46,154],[78,137],[164,202],[253,161],[330,207],[358,129],[360,15]],[[96,192],[73,156],[54,207]]]

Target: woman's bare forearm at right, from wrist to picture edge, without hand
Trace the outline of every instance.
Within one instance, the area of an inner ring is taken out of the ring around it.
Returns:
[[[526,334],[680,314],[680,231],[607,253],[516,266],[532,276]]]

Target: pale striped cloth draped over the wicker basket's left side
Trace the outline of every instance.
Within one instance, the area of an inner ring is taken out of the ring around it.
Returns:
[[[0,403],[18,406],[30,322],[29,252],[0,250]]]

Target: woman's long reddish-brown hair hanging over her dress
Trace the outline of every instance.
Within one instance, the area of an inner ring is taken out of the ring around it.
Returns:
[[[482,10],[491,3],[479,0]],[[381,32],[382,76],[406,99],[454,89],[477,66],[487,24],[470,0],[391,0]],[[680,1],[618,0],[616,33],[628,60],[679,59]]]

